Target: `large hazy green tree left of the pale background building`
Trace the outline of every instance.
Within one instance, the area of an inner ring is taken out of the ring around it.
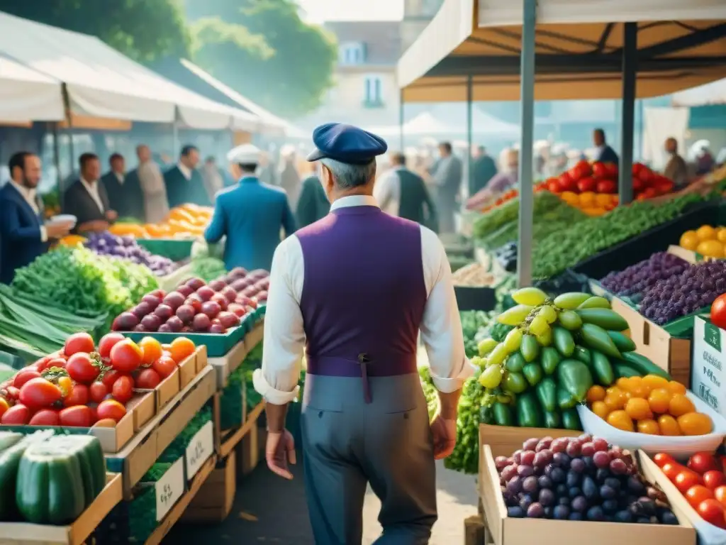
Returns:
[[[205,70],[282,116],[316,108],[333,84],[335,40],[292,0],[187,0],[192,55]]]

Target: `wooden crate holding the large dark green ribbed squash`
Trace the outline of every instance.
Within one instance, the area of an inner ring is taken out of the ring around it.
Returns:
[[[87,543],[104,517],[121,501],[121,493],[121,475],[107,473],[106,487],[73,524],[52,526],[30,524],[30,522],[3,522],[0,524],[0,544],[81,545]]]

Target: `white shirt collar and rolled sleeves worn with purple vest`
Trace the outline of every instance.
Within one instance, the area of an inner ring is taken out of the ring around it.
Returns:
[[[338,199],[330,206],[330,211],[364,205],[378,206],[378,203],[371,196],[354,195]],[[420,230],[428,294],[421,338],[428,352],[433,384],[441,392],[455,392],[473,375],[474,368],[464,353],[464,335],[446,251],[436,233],[423,226]],[[257,392],[274,405],[294,400],[300,389],[298,380],[305,347],[300,309],[303,274],[303,250],[298,238],[291,235],[277,246],[272,258],[262,368],[253,375]]]

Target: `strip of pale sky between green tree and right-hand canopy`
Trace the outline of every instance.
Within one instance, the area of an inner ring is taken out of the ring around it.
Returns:
[[[403,0],[298,0],[314,22],[397,21],[404,13]]]

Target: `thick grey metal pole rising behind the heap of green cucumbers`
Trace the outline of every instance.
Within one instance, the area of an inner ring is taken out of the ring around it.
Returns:
[[[520,75],[521,142],[519,147],[519,243],[517,246],[517,280],[519,286],[532,282],[532,190],[534,146],[534,27],[537,24],[537,0],[523,0],[522,53]]]

